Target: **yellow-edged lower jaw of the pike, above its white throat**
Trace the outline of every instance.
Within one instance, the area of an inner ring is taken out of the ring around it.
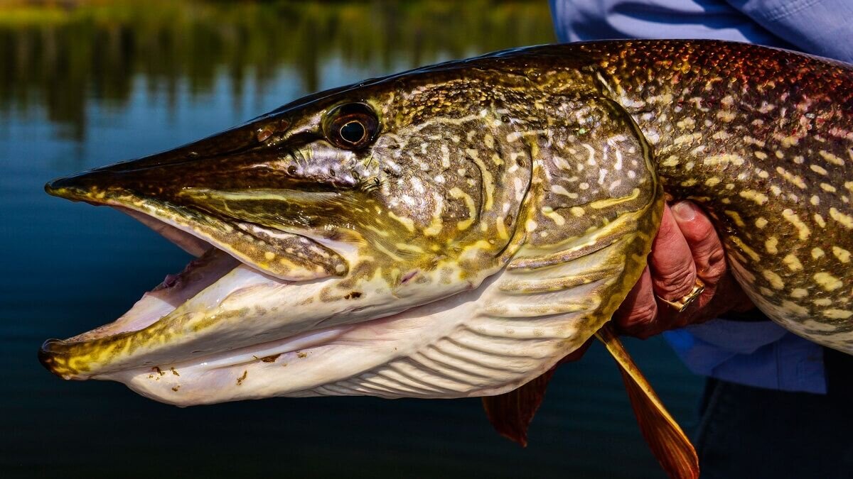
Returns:
[[[335,331],[472,290],[492,273],[472,276],[458,265],[440,264],[392,288],[380,270],[363,277],[283,281],[216,248],[195,263],[177,281],[167,278],[146,293],[114,323],[48,340],[40,360],[67,379],[110,379],[166,365],[203,370],[212,362],[228,363],[233,351],[263,358],[316,345],[311,338],[331,338]],[[438,286],[442,282],[447,284]],[[270,344],[278,352],[268,352]]]

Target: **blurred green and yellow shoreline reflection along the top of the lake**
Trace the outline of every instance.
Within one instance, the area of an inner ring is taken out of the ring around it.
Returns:
[[[76,140],[86,102],[124,107],[134,78],[173,105],[223,72],[239,99],[250,73],[263,90],[282,67],[313,91],[331,59],[388,70],[554,41],[543,0],[28,5],[0,8],[0,113],[44,107]]]

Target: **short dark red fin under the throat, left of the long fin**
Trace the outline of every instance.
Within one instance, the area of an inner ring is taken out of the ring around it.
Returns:
[[[542,404],[545,389],[556,369],[557,366],[548,369],[542,376],[517,390],[483,398],[485,415],[501,436],[518,442],[521,447],[527,447],[527,427]]]

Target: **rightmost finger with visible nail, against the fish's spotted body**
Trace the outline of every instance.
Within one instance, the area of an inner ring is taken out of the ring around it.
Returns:
[[[684,235],[693,254],[696,275],[705,286],[715,286],[726,273],[725,251],[711,218],[692,201],[681,201],[672,206],[673,218]]]

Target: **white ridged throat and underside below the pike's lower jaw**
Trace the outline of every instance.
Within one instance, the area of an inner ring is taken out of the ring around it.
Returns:
[[[518,320],[507,332],[507,319],[485,308],[501,300],[501,276],[396,315],[93,378],[182,407],[273,396],[501,394],[548,370],[596,327],[582,311],[535,325]]]

